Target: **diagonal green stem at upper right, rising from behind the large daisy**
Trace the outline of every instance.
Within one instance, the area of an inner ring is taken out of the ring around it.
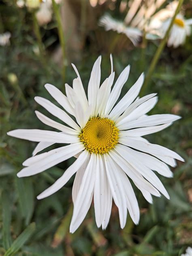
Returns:
[[[155,69],[155,67],[156,67],[156,64],[157,64],[159,58],[160,58],[160,55],[161,55],[161,53],[162,53],[162,50],[164,49],[164,47],[165,47],[165,45],[166,45],[167,39],[168,39],[168,37],[169,37],[169,33],[170,33],[170,31],[171,31],[171,28],[172,28],[172,26],[173,26],[173,22],[174,22],[174,20],[175,20],[175,17],[176,17],[176,15],[177,15],[177,13],[179,12],[179,10],[180,10],[182,4],[183,4],[183,0],[179,0],[179,4],[178,4],[178,6],[177,6],[177,9],[176,9],[176,11],[175,11],[175,14],[173,15],[173,18],[171,19],[171,23],[170,23],[170,25],[169,25],[169,28],[168,28],[168,30],[166,31],[166,33],[165,33],[165,35],[164,35],[164,38],[162,39],[162,42],[160,43],[160,45],[159,45],[158,49],[156,50],[156,53],[155,53],[155,55],[154,55],[152,61],[151,61],[151,65],[150,65],[150,67],[149,67],[149,70],[148,70],[147,75],[146,75],[146,78],[145,78],[145,82],[144,82],[144,84],[143,84],[142,93],[145,92],[145,90],[146,90],[146,88],[147,88],[147,85],[148,85],[148,83],[149,83],[149,81],[150,81],[150,79],[151,79],[151,75],[153,74],[153,71],[154,71],[154,69]]]

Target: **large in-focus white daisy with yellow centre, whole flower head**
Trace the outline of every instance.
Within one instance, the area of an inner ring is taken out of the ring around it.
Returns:
[[[111,74],[101,85],[100,63],[101,57],[98,57],[88,83],[88,99],[77,68],[73,64],[77,78],[73,80],[73,88],[65,85],[66,96],[55,86],[45,85],[65,111],[45,98],[35,97],[38,104],[62,123],[36,111],[38,119],[60,132],[39,129],[17,129],[8,132],[9,136],[39,142],[34,149],[34,156],[23,162],[26,167],[17,173],[18,177],[35,175],[73,156],[77,158],[62,177],[37,197],[42,199],[52,195],[76,173],[72,190],[72,233],[85,218],[92,199],[98,227],[107,227],[112,199],[119,210],[121,228],[126,225],[127,210],[133,222],[138,224],[139,206],[129,179],[132,179],[149,203],[152,203],[151,195],[160,197],[160,193],[169,199],[166,189],[154,171],[165,177],[172,177],[173,173],[168,165],[176,166],[175,159],[184,161],[174,151],[151,144],[142,138],[146,134],[168,127],[180,116],[147,116],[147,112],[156,105],[158,98],[155,93],[137,98],[143,84],[143,74],[117,103],[122,87],[128,79],[130,66],[122,71],[111,90],[115,75],[112,57]],[[36,155],[54,143],[68,145]]]

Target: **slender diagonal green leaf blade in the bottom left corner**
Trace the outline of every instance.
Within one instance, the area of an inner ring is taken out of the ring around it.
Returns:
[[[28,241],[35,230],[35,223],[31,223],[12,243],[11,247],[6,251],[4,256],[11,256],[21,249],[21,247]]]

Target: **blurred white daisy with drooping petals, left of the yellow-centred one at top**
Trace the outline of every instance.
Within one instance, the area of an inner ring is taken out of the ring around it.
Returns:
[[[139,39],[142,36],[142,33],[138,28],[128,27],[123,22],[114,20],[108,14],[100,18],[99,26],[103,26],[106,31],[113,30],[113,31],[116,31],[117,33],[125,34],[131,40],[134,46],[138,44]]]

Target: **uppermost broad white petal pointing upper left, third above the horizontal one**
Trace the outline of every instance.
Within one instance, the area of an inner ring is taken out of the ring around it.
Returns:
[[[71,107],[68,98],[58,88],[49,83],[46,83],[45,88],[55,101],[57,101],[69,114],[74,116],[73,108]]]

